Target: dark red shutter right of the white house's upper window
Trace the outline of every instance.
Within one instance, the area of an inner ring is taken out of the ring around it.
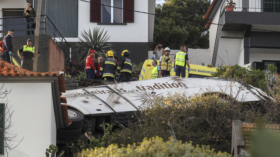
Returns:
[[[134,0],[123,0],[123,23],[129,22],[134,22]]]

